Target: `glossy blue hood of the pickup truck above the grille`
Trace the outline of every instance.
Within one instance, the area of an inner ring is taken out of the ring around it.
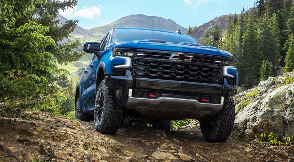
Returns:
[[[213,56],[228,57],[233,59],[234,56],[226,51],[221,51],[216,47],[198,47],[191,44],[174,43],[174,42],[151,42],[148,40],[134,40],[131,42],[117,42],[114,47],[116,48],[134,48],[134,49],[155,49],[163,51],[176,51],[184,53],[197,53],[208,54]]]

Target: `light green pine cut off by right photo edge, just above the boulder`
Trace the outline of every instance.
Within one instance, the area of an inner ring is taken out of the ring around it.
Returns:
[[[283,72],[292,72],[294,69],[294,34],[292,34],[290,37],[289,49],[286,53],[287,53],[285,57],[286,65],[283,69]]]

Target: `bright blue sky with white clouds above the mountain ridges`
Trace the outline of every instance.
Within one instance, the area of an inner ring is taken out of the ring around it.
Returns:
[[[84,29],[110,24],[131,14],[171,19],[183,27],[197,26],[215,17],[240,13],[254,0],[79,0],[74,9],[60,12],[67,19],[78,19]]]

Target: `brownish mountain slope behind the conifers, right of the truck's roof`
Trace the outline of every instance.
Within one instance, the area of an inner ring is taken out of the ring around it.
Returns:
[[[237,14],[237,17],[240,14]],[[207,23],[204,23],[197,27],[196,29],[192,30],[192,36],[197,39],[199,42],[201,42],[201,39],[203,38],[203,35],[206,30],[213,30],[216,23],[219,24],[220,30],[222,30],[222,35],[225,35],[226,31],[226,25],[228,24],[228,19],[230,15],[223,15],[219,16]],[[234,15],[231,15],[231,18],[233,19]]]

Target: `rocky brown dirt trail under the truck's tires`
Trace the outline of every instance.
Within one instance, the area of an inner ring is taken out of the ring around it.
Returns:
[[[293,146],[270,146],[233,132],[223,143],[208,143],[199,126],[165,132],[124,125],[103,135],[93,123],[49,113],[0,118],[0,161],[294,161]],[[183,159],[183,160],[182,160]]]

